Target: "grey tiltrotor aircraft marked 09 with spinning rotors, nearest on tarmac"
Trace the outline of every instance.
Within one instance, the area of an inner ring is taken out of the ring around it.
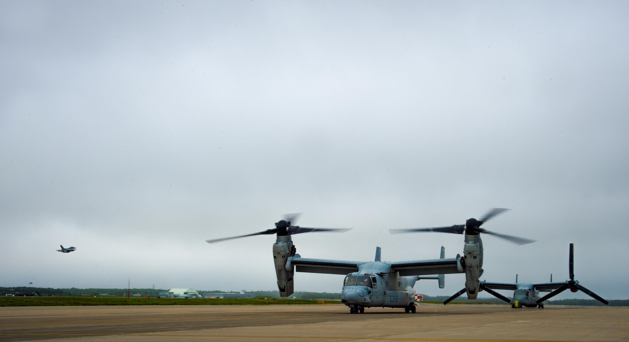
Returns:
[[[479,277],[482,275],[482,241],[479,233],[490,233],[479,226],[493,218],[504,209],[489,211],[481,221],[469,219],[465,225],[453,226],[460,234],[465,232],[465,244],[461,257],[432,260],[411,260],[403,262],[382,262],[380,249],[376,249],[373,262],[354,262],[346,260],[328,260],[302,258],[296,253],[291,235],[315,231],[344,232],[349,229],[337,228],[306,228],[293,226],[299,214],[287,214],[276,223],[276,228],[258,233],[206,240],[208,243],[243,238],[262,234],[276,234],[273,245],[273,259],[277,275],[277,287],[281,297],[293,293],[293,276],[297,272],[327,273],[346,275],[343,282],[341,302],[350,308],[350,314],[364,313],[365,307],[399,307],[406,313],[416,311],[416,297],[413,286],[420,279],[438,279],[443,288],[443,275],[446,273],[465,273],[467,297],[476,299],[479,291]],[[415,231],[401,229],[399,232]],[[496,236],[513,241],[514,236],[492,233]],[[521,238],[523,243],[533,242]],[[433,276],[426,276],[433,275]],[[435,276],[436,275],[436,276]]]

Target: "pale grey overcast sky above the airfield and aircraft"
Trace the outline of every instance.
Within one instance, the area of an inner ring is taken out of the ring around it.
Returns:
[[[462,253],[627,299],[625,1],[0,0],[0,286],[276,290],[306,258]],[[58,245],[77,251],[58,253]],[[297,273],[296,291],[342,275]],[[451,295],[421,280],[418,292]],[[509,292],[501,291],[511,295]],[[589,298],[564,292],[562,298]]]

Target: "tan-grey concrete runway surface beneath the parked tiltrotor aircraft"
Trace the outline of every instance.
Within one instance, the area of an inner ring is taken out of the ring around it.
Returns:
[[[0,307],[1,341],[629,341],[629,307]]]

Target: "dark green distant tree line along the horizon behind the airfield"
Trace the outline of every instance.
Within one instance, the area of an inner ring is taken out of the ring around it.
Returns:
[[[131,289],[131,295],[142,296],[157,296],[160,292],[165,292],[169,289]],[[0,287],[0,292],[5,294],[11,292],[21,295],[38,295],[38,296],[50,296],[50,295],[126,295],[128,289],[77,289],[72,287],[70,289],[51,289],[50,287]],[[238,294],[240,291],[223,291],[223,290],[198,290],[199,294],[213,294],[213,293],[232,293]],[[254,294],[256,297],[267,298],[279,298],[279,291],[245,291],[245,294]],[[332,299],[340,300],[340,292],[295,292],[291,295],[291,298],[296,299]],[[448,299],[447,295],[430,296],[424,295],[424,301],[426,302],[443,302]],[[506,304],[505,302],[497,298],[479,298],[476,300],[470,299],[457,299],[453,303],[479,303],[479,304]],[[550,305],[577,305],[577,306],[603,306],[602,303],[594,299],[559,299],[557,301],[547,301]],[[609,306],[629,306],[629,299],[612,299]]]

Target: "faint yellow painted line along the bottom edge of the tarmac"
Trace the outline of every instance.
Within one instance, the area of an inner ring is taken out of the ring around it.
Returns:
[[[542,339],[447,339],[447,338],[387,338],[387,337],[321,337],[321,336],[257,336],[257,335],[198,335],[198,334],[0,334],[0,336],[143,336],[143,337],[203,337],[203,338],[312,338],[312,339],[372,339],[379,341],[447,341],[447,342],[606,342]]]

